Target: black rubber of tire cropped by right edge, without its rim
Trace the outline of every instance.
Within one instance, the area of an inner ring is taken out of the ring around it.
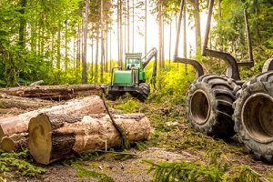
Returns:
[[[268,143],[257,141],[247,131],[242,121],[244,104],[247,102],[249,96],[259,93],[273,97],[273,71],[254,76],[242,86],[240,95],[235,102],[235,130],[238,132],[239,141],[245,144],[248,152],[254,153],[257,159],[265,159],[269,163],[273,163],[273,141]]]

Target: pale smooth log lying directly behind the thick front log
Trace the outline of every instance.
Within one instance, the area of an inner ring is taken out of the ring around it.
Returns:
[[[0,140],[3,136],[27,132],[29,120],[40,113],[89,115],[103,113],[104,109],[105,106],[100,96],[86,96],[66,102],[64,105],[41,108],[18,116],[1,118],[0,128],[3,132],[0,129]]]

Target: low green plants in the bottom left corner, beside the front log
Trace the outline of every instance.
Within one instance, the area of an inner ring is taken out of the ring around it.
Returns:
[[[42,167],[35,167],[25,161],[29,156],[27,150],[19,153],[9,152],[6,153],[0,150],[0,177],[8,177],[14,174],[24,177],[38,177],[38,175],[45,173]],[[1,178],[0,178],[1,179]]]

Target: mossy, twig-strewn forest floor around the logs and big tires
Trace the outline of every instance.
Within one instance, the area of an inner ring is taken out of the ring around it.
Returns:
[[[197,169],[190,166],[191,162],[211,170],[214,164],[215,168],[225,171],[223,180],[250,171],[259,181],[273,181],[273,166],[257,161],[253,155],[248,154],[243,144],[238,142],[237,136],[224,141],[193,131],[187,122],[183,104],[175,104],[171,100],[161,104],[143,104],[134,100],[131,102],[133,105],[126,103],[128,99],[107,102],[108,106],[119,106],[125,110],[127,107],[133,109],[129,112],[146,114],[152,126],[148,141],[136,143],[126,151],[100,151],[80,158],[63,159],[48,166],[39,165],[27,156],[25,161],[34,167],[44,168],[45,172],[36,174],[36,169],[32,169],[35,177],[23,177],[20,170],[10,171],[0,174],[0,181],[155,181],[155,170],[148,172],[153,165],[147,161],[158,165],[174,162],[188,164],[187,169],[192,171]],[[16,112],[1,114],[1,117],[15,115]],[[207,177],[198,179],[208,181]]]

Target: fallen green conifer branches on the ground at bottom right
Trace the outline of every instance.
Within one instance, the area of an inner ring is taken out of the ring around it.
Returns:
[[[266,177],[247,166],[232,167],[232,164],[223,157],[222,151],[214,147],[207,151],[209,163],[199,161],[161,162],[156,164],[146,160],[152,165],[148,172],[154,171],[155,181],[223,181],[223,182],[252,182],[268,181]]]

